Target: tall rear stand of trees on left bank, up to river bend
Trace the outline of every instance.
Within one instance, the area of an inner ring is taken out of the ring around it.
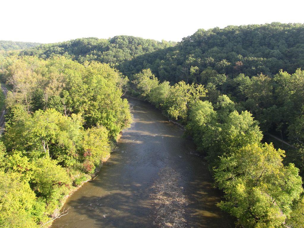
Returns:
[[[80,114],[85,128],[105,126],[112,139],[130,126],[129,105],[121,98],[128,79],[108,64],[24,57],[13,58],[6,71],[13,87],[7,99],[9,123],[22,112],[20,104],[28,113],[53,108],[65,116]]]

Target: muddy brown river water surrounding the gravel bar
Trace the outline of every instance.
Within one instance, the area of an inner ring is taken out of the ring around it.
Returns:
[[[128,98],[134,124],[123,132],[118,150],[104,163],[98,177],[67,200],[68,214],[52,228],[161,227],[155,223],[159,206],[152,187],[165,167],[180,176],[178,185],[187,204],[185,227],[234,227],[215,206],[221,193],[212,187],[206,161],[195,153],[192,140],[146,102]],[[158,208],[158,209],[157,209]]]

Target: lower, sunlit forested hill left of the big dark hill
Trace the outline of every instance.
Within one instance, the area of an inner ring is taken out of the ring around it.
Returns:
[[[22,51],[20,55],[37,55],[42,58],[58,54],[69,55],[78,62],[97,60],[116,66],[142,54],[172,47],[175,44],[176,42],[165,40],[159,42],[135,36],[114,36],[109,39],[88,37],[60,43],[41,44]]]

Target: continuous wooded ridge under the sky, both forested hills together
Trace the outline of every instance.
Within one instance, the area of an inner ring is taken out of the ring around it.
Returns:
[[[230,77],[240,73],[249,77],[273,75],[280,69],[293,73],[304,68],[304,24],[273,22],[199,29],[178,43],[134,36],[80,38],[41,44],[20,53],[42,58],[57,54],[80,63],[109,63],[127,76],[150,68],[161,81],[172,83],[203,83],[201,73],[207,68]]]

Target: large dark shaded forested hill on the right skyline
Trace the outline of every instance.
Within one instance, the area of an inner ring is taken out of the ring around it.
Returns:
[[[119,70],[131,75],[150,68],[161,81],[203,83],[200,74],[207,68],[251,77],[280,69],[294,73],[300,67],[304,69],[304,24],[273,22],[199,29],[174,47],[124,62]]]

